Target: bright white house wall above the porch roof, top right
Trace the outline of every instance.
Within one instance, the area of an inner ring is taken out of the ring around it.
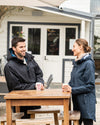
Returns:
[[[67,0],[61,6],[78,11],[90,12],[90,0]]]

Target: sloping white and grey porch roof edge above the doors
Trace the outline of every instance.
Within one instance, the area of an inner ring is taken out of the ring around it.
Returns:
[[[33,9],[38,9],[38,10],[49,12],[49,13],[53,13],[53,14],[67,16],[67,17],[71,17],[71,18],[75,18],[75,19],[79,19],[79,20],[85,20],[85,21],[89,21],[89,22],[94,17],[91,13],[77,11],[77,10],[73,10],[73,9],[69,9],[69,8],[57,8],[57,7],[51,7],[51,6],[50,7],[47,7],[47,6],[36,6],[36,7],[27,6],[27,7],[33,8]]]

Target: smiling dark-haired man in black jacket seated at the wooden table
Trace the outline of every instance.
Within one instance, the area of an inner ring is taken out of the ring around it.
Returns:
[[[41,90],[44,89],[43,73],[34,57],[26,52],[25,39],[12,39],[12,48],[9,49],[7,60],[4,73],[9,91],[33,90],[36,89],[36,82],[42,83]],[[29,118],[27,110],[37,108],[40,106],[21,107],[21,112],[25,114],[23,118]]]

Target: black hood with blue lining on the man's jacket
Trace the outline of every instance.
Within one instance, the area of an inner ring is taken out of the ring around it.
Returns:
[[[25,59],[26,60],[32,60],[34,58],[34,56],[32,56],[31,54],[27,53],[26,52],[26,55],[25,55]],[[9,49],[8,51],[8,55],[7,55],[7,60],[10,61],[10,60],[16,60],[16,61],[20,61],[23,63],[23,60],[21,59],[18,59],[17,56],[14,54],[14,51],[12,48]]]

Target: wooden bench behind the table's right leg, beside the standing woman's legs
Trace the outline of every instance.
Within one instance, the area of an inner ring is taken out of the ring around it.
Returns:
[[[59,120],[62,120],[62,125],[64,125],[63,114],[58,116]],[[74,125],[79,125],[80,112],[79,111],[69,111],[69,120],[74,122]]]

